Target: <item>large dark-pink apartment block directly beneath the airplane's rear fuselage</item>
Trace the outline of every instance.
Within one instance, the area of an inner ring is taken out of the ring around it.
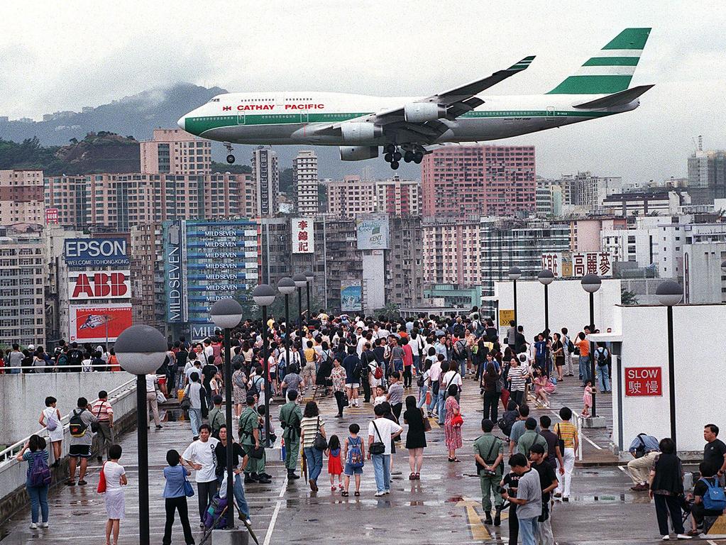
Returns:
[[[446,146],[423,158],[423,216],[529,212],[536,188],[533,146]]]

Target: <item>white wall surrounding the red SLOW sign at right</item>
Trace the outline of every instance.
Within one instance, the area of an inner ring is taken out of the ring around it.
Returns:
[[[622,399],[624,450],[638,433],[669,437],[668,337],[663,306],[619,306],[622,320],[621,376],[614,380],[613,440],[620,435],[618,403]],[[703,451],[703,426],[726,429],[726,337],[717,324],[726,323],[726,305],[673,308],[677,442],[679,451]],[[623,367],[662,368],[663,396],[620,397]]]

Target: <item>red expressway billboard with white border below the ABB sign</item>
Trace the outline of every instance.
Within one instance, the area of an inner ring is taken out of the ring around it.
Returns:
[[[70,306],[70,342],[113,342],[127,327],[131,327],[131,305]]]

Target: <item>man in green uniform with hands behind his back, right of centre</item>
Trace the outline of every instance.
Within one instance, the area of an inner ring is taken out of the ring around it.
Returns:
[[[474,441],[474,459],[476,460],[476,472],[479,474],[481,484],[481,507],[484,509],[486,520],[484,524],[492,524],[492,494],[494,494],[494,507],[497,512],[494,514],[494,526],[502,523],[502,504],[504,500],[497,493],[497,486],[502,480],[502,460],[504,459],[504,442],[492,435],[494,422],[489,419],[481,421],[481,435]]]

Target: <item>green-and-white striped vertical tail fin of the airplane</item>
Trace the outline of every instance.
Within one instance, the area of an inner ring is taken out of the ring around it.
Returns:
[[[611,94],[630,85],[650,28],[626,28],[547,94]]]

